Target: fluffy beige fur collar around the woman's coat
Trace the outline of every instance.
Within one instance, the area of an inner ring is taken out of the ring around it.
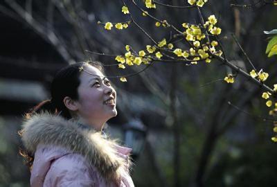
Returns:
[[[32,154],[37,145],[58,145],[82,154],[107,181],[118,181],[125,161],[116,152],[116,143],[103,139],[100,133],[78,128],[74,121],[49,113],[35,114],[24,121],[22,141]]]

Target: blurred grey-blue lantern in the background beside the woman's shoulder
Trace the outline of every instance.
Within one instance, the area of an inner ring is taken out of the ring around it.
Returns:
[[[125,145],[132,148],[132,158],[135,160],[143,150],[146,136],[146,127],[139,118],[133,118],[124,125]]]

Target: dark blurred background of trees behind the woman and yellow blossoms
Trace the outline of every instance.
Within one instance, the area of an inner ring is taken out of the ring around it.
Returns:
[[[181,0],[159,2],[184,5]],[[271,86],[277,82],[276,57],[265,55],[268,36],[263,30],[277,27],[277,6],[230,6],[255,2],[210,0],[203,15],[217,17],[226,57],[251,71],[231,37],[234,33],[256,68],[269,72]],[[137,3],[143,7],[143,1]],[[170,28],[157,28],[131,1],[127,5],[154,39],[170,37]],[[97,24],[129,21],[122,6],[120,0],[0,1],[0,186],[29,186],[17,131],[24,112],[50,97],[57,70],[87,59],[116,63],[114,57],[85,50],[120,55],[126,44],[136,51],[152,45],[134,24],[110,31]],[[177,28],[200,22],[194,8],[157,5],[148,12]],[[124,75],[142,68],[105,70],[107,75]],[[135,186],[277,185],[277,149],[262,90],[240,75],[234,84],[226,84],[226,73],[231,69],[216,60],[193,66],[157,62],[125,83],[111,79],[118,93],[118,116],[109,121],[107,132],[134,149]]]

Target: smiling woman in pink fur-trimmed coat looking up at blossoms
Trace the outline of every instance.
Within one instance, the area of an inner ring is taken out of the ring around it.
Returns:
[[[51,100],[27,114],[21,130],[33,158],[30,186],[134,186],[131,149],[102,133],[116,114],[116,91],[99,63],[80,62],[57,73]]]

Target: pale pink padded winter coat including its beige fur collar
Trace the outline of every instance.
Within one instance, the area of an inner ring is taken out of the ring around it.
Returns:
[[[31,187],[134,186],[129,176],[130,148],[61,116],[32,116],[24,122],[22,141],[35,153]]]

